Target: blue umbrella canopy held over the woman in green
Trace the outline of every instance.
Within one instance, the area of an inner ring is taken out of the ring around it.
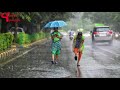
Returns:
[[[66,22],[64,22],[63,20],[55,20],[55,21],[51,21],[49,23],[47,23],[44,27],[45,28],[53,28],[53,27],[63,27],[66,26]]]

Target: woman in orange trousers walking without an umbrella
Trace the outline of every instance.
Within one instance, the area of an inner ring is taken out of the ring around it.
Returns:
[[[84,50],[84,36],[82,32],[78,32],[77,36],[73,40],[73,52],[75,54],[75,60],[77,61],[77,66],[80,66],[79,62]]]

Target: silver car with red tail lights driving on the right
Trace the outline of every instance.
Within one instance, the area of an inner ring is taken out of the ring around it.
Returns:
[[[96,26],[92,31],[92,42],[109,42],[113,41],[113,30],[109,26]]]

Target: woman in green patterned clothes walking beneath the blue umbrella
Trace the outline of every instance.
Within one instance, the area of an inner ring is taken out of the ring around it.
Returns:
[[[61,51],[61,39],[62,34],[58,31],[58,27],[54,28],[54,31],[51,33],[52,39],[52,64],[57,64],[58,56],[60,55]]]

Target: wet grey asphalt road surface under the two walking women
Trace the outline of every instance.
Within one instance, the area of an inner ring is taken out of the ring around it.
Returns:
[[[85,38],[85,50],[76,66],[68,36],[62,39],[62,51],[57,65],[51,64],[51,40],[30,48],[22,57],[0,64],[0,78],[120,78],[120,41],[112,45],[91,44]]]

